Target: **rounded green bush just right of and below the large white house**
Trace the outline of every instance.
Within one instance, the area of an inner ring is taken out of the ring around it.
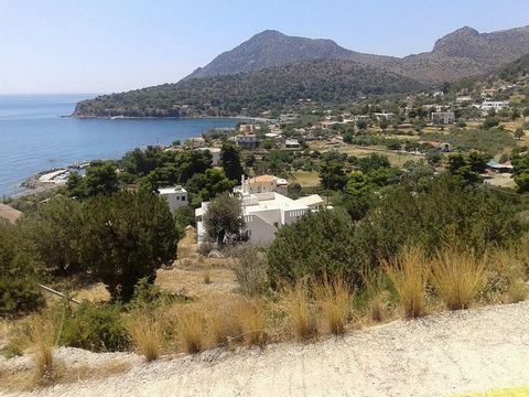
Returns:
[[[268,249],[268,279],[278,289],[304,277],[342,277],[360,282],[353,247],[353,224],[337,211],[320,211],[282,227]]]

